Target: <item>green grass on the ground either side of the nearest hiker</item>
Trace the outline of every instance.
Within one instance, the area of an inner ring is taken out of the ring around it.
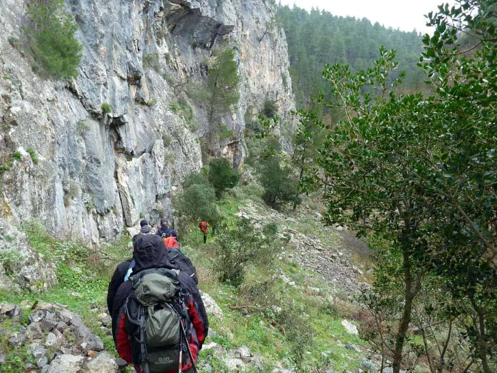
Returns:
[[[260,193],[261,188],[256,185],[238,186],[224,193],[223,198],[218,201],[218,206],[225,222],[234,224],[237,219],[235,214],[238,212],[238,207],[247,203],[248,200],[251,201],[252,205],[261,209],[260,215],[269,212],[270,210],[260,199]],[[264,209],[267,210],[263,211]],[[292,226],[294,229],[299,228],[298,223],[285,221],[283,224]],[[311,220],[309,220],[309,224],[312,224]],[[1,301],[19,304],[25,300],[29,303],[39,300],[66,304],[69,310],[82,316],[83,321],[93,333],[102,338],[105,348],[116,354],[111,336],[107,336],[105,330],[100,328],[100,321],[96,318],[99,311],[92,311],[90,305],[96,302],[100,308],[106,306],[105,299],[110,276],[117,263],[131,255],[128,240],[101,247],[100,250],[105,252],[109,258],[103,259],[97,252],[78,243],[59,242],[45,234],[39,224],[28,224],[24,227],[24,231],[27,233],[31,245],[47,260],[56,264],[59,284],[41,294],[0,292]],[[326,235],[323,230],[317,231],[316,235]],[[332,242],[335,238],[323,237],[323,240],[325,239]],[[246,268],[244,285],[239,290],[228,284],[220,283],[213,271],[214,262],[219,260],[216,256],[216,236],[212,238],[209,234],[208,243],[204,245],[198,227],[191,225],[182,229],[180,243],[182,251],[192,259],[197,267],[200,288],[210,294],[224,312],[222,320],[214,316],[209,318],[210,327],[218,335],[212,340],[208,339],[206,343],[216,342],[226,349],[236,349],[246,345],[252,353],[258,353],[264,358],[266,371],[271,371],[276,366],[276,362],[282,362],[284,366],[295,369],[293,351],[295,343],[298,345],[299,335],[293,337],[297,339],[292,344],[288,335],[285,337],[282,331],[273,325],[271,319],[277,319],[278,314],[272,308],[260,307],[257,305],[258,303],[246,303],[248,298],[244,289],[257,286],[257,284],[267,280],[272,281],[272,291],[268,294],[267,307],[274,304],[281,308],[300,310],[300,316],[302,313],[307,314],[305,317],[306,325],[312,329],[314,338],[312,344],[299,346],[307,352],[303,355],[304,367],[323,367],[337,371],[358,368],[362,356],[359,356],[360,354],[355,351],[339,347],[337,340],[340,340],[343,345],[352,343],[364,346],[365,343],[359,337],[345,332],[341,325],[345,311],[322,297],[322,295],[326,297],[331,285],[320,282],[318,279],[321,277],[318,274],[303,270],[295,262],[276,259],[272,266],[249,265]],[[284,245],[284,243],[276,241],[274,250],[279,252]],[[318,295],[311,295],[303,288],[288,286],[279,279],[278,276],[281,273],[295,280],[297,284],[306,287],[319,287],[322,290]],[[273,277],[274,279],[271,280]],[[82,297],[70,295],[72,291],[81,293]],[[250,317],[247,317],[243,310],[234,309],[237,305],[253,306],[247,309]],[[299,314],[296,314],[297,316],[300,317]],[[291,328],[293,320],[290,319],[287,322]],[[326,358],[322,352],[326,354]],[[17,354],[15,356],[25,357],[22,349],[15,354]],[[223,357],[213,350],[202,351],[200,359],[207,361],[215,372],[228,372]],[[11,372],[20,371],[12,370]]]

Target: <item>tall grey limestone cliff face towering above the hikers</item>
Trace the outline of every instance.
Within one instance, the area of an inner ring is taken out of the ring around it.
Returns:
[[[174,190],[202,166],[208,116],[194,96],[219,48],[234,49],[242,81],[215,153],[241,164],[245,118],[266,98],[283,117],[294,107],[269,1],[67,0],[83,45],[70,82],[34,74],[30,53],[9,44],[22,41],[22,6],[0,3],[0,165],[11,166],[0,172],[0,217],[12,224],[37,217],[55,235],[98,243],[143,214],[172,219]]]

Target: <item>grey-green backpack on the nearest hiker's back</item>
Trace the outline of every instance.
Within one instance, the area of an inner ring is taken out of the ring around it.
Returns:
[[[189,318],[180,296],[179,271],[154,268],[129,280],[126,330],[133,364],[145,373],[178,371],[189,358]]]

